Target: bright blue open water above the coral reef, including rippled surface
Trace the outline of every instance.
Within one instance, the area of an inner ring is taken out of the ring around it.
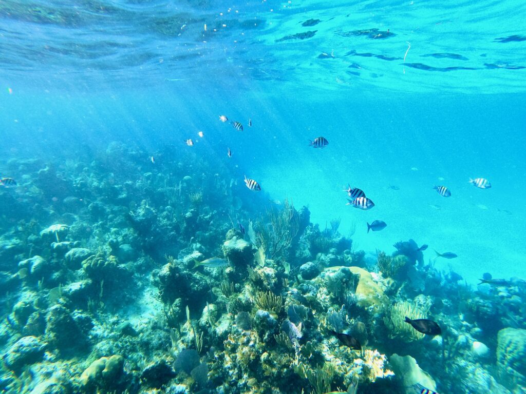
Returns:
[[[412,238],[426,260],[457,253],[436,263],[471,282],[524,277],[525,14],[512,0],[3,0],[1,159],[193,138],[196,160],[218,155],[322,228],[356,227],[355,248]],[[309,147],[319,136],[328,147]],[[375,208],[346,206],[348,183]],[[367,234],[376,219],[387,228]]]

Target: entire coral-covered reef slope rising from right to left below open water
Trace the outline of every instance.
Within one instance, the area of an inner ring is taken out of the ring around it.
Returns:
[[[2,168],[0,391],[524,392],[521,279],[474,290],[413,240],[354,250],[213,157],[145,157]]]

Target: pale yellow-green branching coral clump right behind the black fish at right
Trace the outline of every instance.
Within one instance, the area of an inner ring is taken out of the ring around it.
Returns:
[[[389,316],[383,318],[383,323],[389,328],[389,336],[406,342],[422,339],[424,334],[419,333],[404,320],[406,316],[411,319],[426,319],[429,307],[429,305],[421,307],[407,301],[392,305],[389,308]]]

